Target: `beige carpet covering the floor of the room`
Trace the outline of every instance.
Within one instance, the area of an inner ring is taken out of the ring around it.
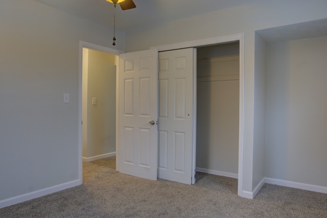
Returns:
[[[83,185],[0,209],[0,217],[327,217],[327,194],[265,184],[253,200],[237,179],[197,173],[195,185],[115,171],[115,157],[83,163]]]

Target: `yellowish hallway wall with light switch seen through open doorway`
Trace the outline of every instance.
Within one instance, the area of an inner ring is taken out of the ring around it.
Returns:
[[[115,152],[115,55],[88,50],[86,76],[87,152],[83,157],[90,158]],[[97,99],[97,105],[92,105],[92,98]]]

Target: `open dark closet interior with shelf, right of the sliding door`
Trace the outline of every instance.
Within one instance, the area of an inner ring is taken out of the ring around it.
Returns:
[[[238,178],[240,42],[197,48],[196,171]]]

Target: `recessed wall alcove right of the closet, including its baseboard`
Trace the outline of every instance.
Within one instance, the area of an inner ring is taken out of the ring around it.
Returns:
[[[327,193],[327,19],[259,30],[255,41],[265,145],[253,153],[264,149],[265,182]]]

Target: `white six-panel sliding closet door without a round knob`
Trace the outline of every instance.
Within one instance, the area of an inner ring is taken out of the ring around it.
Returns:
[[[196,49],[159,53],[158,178],[194,184]]]

